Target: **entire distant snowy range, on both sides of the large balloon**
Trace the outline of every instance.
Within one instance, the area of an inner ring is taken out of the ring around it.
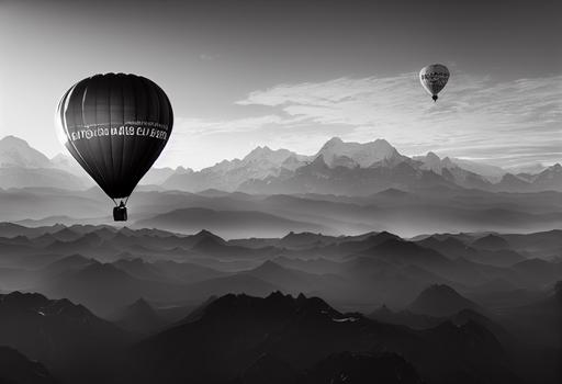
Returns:
[[[200,192],[209,189],[247,193],[321,193],[369,195],[389,188],[405,191],[446,187],[484,191],[562,190],[562,167],[537,173],[510,173],[481,162],[439,158],[434,153],[407,157],[384,139],[346,143],[334,137],[313,156],[257,147],[243,159],[223,160],[193,171],[183,167],[151,169],[140,185]],[[0,188],[57,187],[83,190],[88,176],[68,156],[53,159],[14,136],[0,140]]]

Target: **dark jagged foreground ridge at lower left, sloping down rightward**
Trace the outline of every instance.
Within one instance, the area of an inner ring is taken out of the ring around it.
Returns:
[[[0,296],[0,345],[40,361],[55,376],[94,383],[128,340],[120,328],[68,300],[20,292]]]

